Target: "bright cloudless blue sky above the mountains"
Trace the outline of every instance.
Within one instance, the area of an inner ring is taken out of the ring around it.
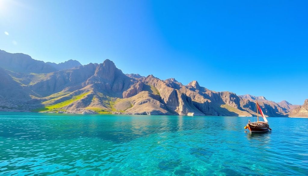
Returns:
[[[0,49],[303,104],[308,1],[0,0]],[[1,66],[0,66],[1,67]]]

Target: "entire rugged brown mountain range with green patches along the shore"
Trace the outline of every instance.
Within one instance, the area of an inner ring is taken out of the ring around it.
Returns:
[[[276,103],[263,96],[215,92],[197,81],[124,74],[110,60],[81,65],[43,62],[22,53],[0,50],[0,110],[57,113],[148,115],[255,115],[255,100],[266,116],[308,117],[302,106]]]

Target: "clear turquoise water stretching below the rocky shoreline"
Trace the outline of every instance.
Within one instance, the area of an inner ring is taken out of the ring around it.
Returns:
[[[307,175],[308,119],[0,112],[0,175]]]

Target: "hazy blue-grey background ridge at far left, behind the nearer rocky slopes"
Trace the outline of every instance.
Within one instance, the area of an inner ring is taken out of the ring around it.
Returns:
[[[0,67],[12,72],[22,73],[50,73],[58,70],[75,68],[81,64],[76,60],[68,60],[64,63],[43,62],[32,59],[22,53],[8,53],[0,50]]]

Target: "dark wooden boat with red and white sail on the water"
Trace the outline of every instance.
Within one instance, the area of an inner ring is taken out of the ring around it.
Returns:
[[[244,129],[249,129],[250,132],[254,133],[254,132],[268,132],[270,129],[270,125],[266,119],[266,117],[264,116],[262,109],[260,108],[259,104],[258,104],[258,100],[256,102],[256,109],[257,109],[257,121],[256,122],[250,122],[250,120],[248,120],[248,124],[244,127]],[[261,117],[263,118],[264,121],[259,121],[259,114],[258,112],[260,112]]]

